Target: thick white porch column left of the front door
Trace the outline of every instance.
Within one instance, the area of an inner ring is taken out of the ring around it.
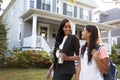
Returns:
[[[32,21],[32,48],[36,48],[36,27],[37,27],[37,16],[33,16]]]

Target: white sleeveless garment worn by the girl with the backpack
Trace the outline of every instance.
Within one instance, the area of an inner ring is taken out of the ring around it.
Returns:
[[[98,69],[95,60],[92,58],[92,62],[88,64],[87,48],[84,56],[81,56],[81,71],[79,80],[104,80],[103,75]]]

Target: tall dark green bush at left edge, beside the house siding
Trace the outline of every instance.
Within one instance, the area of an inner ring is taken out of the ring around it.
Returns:
[[[4,24],[0,24],[0,63],[4,62],[7,51],[7,29]]]

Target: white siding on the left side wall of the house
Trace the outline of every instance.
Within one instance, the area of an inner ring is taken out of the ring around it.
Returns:
[[[20,26],[22,24],[20,16],[23,14],[24,11],[23,3],[24,0],[16,0],[3,17],[3,23],[9,26],[8,49],[20,48],[21,45],[21,40],[19,40],[19,33]]]

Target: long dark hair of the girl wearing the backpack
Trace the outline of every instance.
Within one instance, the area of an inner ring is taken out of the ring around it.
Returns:
[[[100,43],[100,31],[98,27],[95,25],[86,25],[85,28],[88,32],[91,32],[91,35],[89,37],[89,44],[86,42],[85,45],[83,45],[81,54],[82,56],[84,55],[86,47],[88,46],[88,63],[91,63],[91,58],[92,58],[91,52]]]

